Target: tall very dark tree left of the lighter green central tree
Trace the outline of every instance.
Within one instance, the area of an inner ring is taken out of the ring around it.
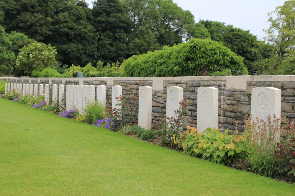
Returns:
[[[127,9],[119,0],[93,2],[94,28],[99,33],[98,59],[104,63],[123,61],[129,54],[131,20]]]

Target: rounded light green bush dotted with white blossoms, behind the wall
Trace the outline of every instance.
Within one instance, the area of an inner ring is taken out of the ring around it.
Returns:
[[[35,41],[19,49],[15,67],[24,70],[25,74],[31,76],[35,68],[41,70],[54,64],[56,54],[54,47]]]

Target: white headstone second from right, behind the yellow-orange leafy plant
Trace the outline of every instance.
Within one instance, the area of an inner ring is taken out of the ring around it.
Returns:
[[[198,88],[197,129],[218,128],[218,88]]]

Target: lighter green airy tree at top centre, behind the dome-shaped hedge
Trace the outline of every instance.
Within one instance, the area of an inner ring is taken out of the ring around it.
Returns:
[[[123,1],[132,20],[133,54],[181,43],[195,23],[191,12],[184,11],[172,0]]]

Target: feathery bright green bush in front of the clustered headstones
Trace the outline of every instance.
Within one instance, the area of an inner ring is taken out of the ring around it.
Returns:
[[[85,122],[88,124],[93,124],[97,119],[103,119],[103,113],[105,111],[104,106],[97,100],[92,103],[87,104],[85,109]]]

